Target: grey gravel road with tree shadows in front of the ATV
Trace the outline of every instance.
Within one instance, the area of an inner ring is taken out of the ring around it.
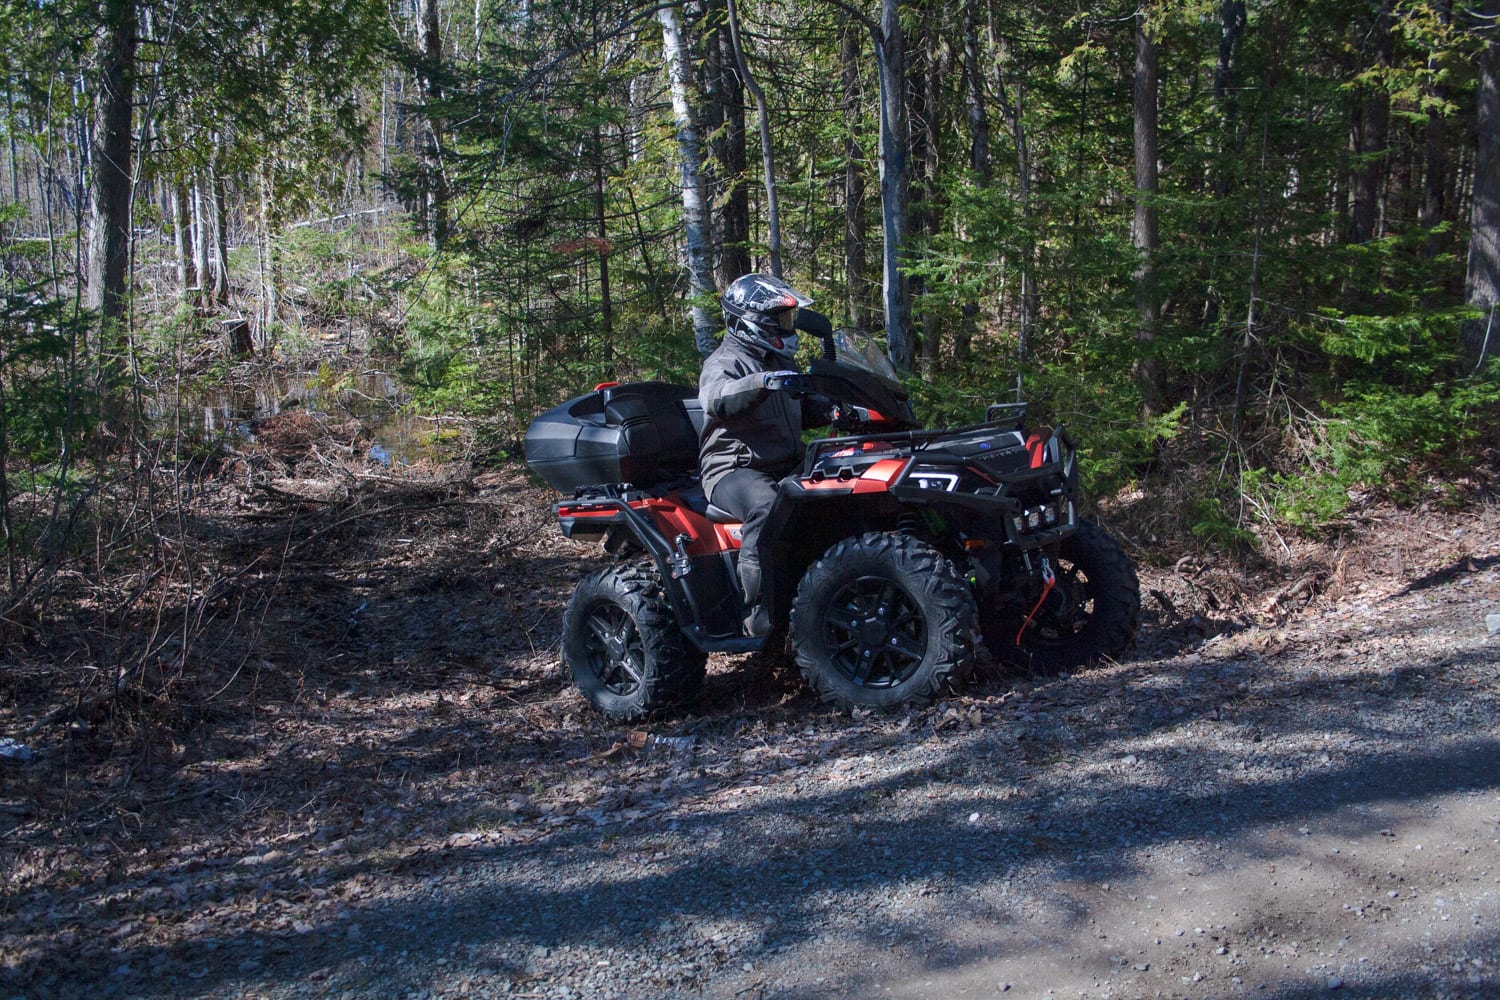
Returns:
[[[444,826],[94,897],[128,924],[108,970],[68,972],[63,937],[6,996],[1500,997],[1492,529],[900,717],[687,712],[652,730],[676,745],[585,723],[588,753],[540,733],[566,768]],[[177,933],[132,946],[152,892]],[[228,897],[284,916],[192,922]]]

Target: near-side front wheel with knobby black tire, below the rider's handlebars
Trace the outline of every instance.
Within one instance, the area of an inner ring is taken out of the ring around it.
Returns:
[[[908,535],[840,541],[802,577],[792,604],[796,666],[843,708],[922,705],[972,667],[969,588]]]

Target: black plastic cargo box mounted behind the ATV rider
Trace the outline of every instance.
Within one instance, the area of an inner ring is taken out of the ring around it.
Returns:
[[[564,493],[603,483],[648,487],[698,474],[702,427],[692,385],[621,382],[532,420],[526,465]]]

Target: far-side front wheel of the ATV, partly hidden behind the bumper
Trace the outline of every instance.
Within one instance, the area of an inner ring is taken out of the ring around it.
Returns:
[[[1098,525],[1078,522],[1052,556],[1054,583],[1020,634],[1020,652],[1032,669],[1090,667],[1118,657],[1140,627],[1140,582],[1119,543]],[[984,621],[990,651],[1014,649],[1016,621]]]

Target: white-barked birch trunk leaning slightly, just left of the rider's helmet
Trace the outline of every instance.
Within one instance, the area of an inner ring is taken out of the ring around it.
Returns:
[[[693,106],[687,99],[687,79],[692,52],[682,42],[676,7],[657,10],[662,24],[662,52],[672,91],[672,117],[676,121],[676,145],[681,156],[682,180],[682,228],[687,237],[687,283],[693,298],[693,342],[698,352],[708,357],[718,346],[718,324],[706,306],[714,294],[714,261],[704,213],[704,147],[693,121]]]

